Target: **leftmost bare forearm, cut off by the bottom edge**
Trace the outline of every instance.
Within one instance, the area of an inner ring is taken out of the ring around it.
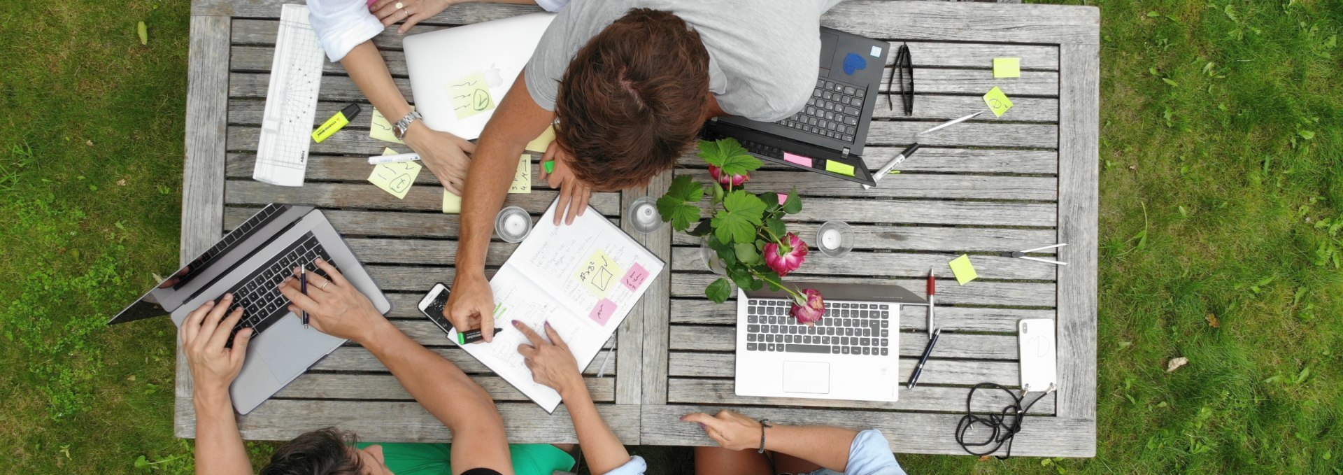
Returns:
[[[199,390],[192,397],[196,407],[196,474],[248,474],[251,460],[238,433],[238,420],[228,390]]]

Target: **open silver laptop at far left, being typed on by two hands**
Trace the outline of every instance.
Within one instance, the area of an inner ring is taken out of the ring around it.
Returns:
[[[228,390],[234,408],[248,413],[345,342],[304,327],[289,311],[289,299],[277,290],[294,267],[304,266],[322,275],[313,264],[316,258],[334,264],[346,280],[368,295],[377,311],[391,310],[391,302],[321,211],[270,204],[107,323],[171,314],[173,323],[180,326],[207,301],[232,293],[234,306],[244,309],[243,321],[232,331],[236,334],[243,327],[255,331],[242,373]],[[232,345],[232,335],[228,345]]]

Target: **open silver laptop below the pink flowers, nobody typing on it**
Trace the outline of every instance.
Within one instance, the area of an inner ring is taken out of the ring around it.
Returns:
[[[825,295],[814,326],[783,291],[737,290],[737,396],[888,401],[900,388],[900,306],[928,302],[900,286],[802,283]]]

